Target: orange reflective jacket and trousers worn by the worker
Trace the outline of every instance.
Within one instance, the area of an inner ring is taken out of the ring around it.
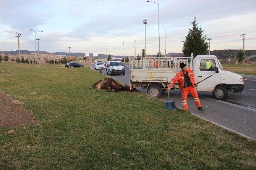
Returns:
[[[190,92],[190,94],[193,96],[194,101],[196,103],[197,107],[201,107],[201,103],[200,100],[198,98],[198,94],[196,92],[196,88],[194,87],[194,73],[191,69],[187,68],[187,72],[188,72],[188,77],[190,78],[190,82],[191,82],[191,86],[190,87],[183,87],[184,86],[184,75],[182,70],[177,72],[177,74],[175,75],[175,77],[173,77],[173,79],[171,80],[170,84],[169,84],[169,88],[172,88],[173,83],[178,82],[178,86],[180,87],[180,91],[181,91],[181,96],[182,96],[182,106],[183,109],[188,111],[188,104],[187,104],[187,96],[188,96],[188,92]]]

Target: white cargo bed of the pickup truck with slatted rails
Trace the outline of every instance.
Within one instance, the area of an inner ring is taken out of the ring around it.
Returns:
[[[129,60],[131,89],[138,86],[148,88],[150,85],[158,83],[164,90],[167,87],[167,81],[170,81],[181,70],[180,63],[183,62],[188,68],[192,68],[193,58],[149,57],[129,58]],[[178,85],[175,85],[175,87],[177,88]]]

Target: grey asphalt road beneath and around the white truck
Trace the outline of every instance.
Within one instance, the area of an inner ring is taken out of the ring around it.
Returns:
[[[92,69],[94,69],[94,65],[92,65]],[[128,65],[125,65],[125,70],[125,75],[110,76],[106,74],[105,70],[102,70],[102,74],[129,85],[131,71]],[[99,70],[97,71],[99,72]],[[244,77],[244,82],[243,92],[228,93],[225,101],[214,99],[212,92],[198,91],[204,112],[197,109],[193,97],[189,94],[187,99],[189,111],[203,119],[256,140],[256,102],[254,101],[256,99],[256,79]],[[141,87],[137,89],[147,93]],[[168,92],[165,91],[160,99],[167,101]],[[182,108],[181,93],[178,89],[170,90],[170,100],[175,101],[175,105]]]

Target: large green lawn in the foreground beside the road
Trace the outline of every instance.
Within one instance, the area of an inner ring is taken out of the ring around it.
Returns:
[[[255,141],[142,92],[86,90],[104,78],[85,67],[0,64],[0,91],[41,122],[0,128],[0,169],[256,168]]]

